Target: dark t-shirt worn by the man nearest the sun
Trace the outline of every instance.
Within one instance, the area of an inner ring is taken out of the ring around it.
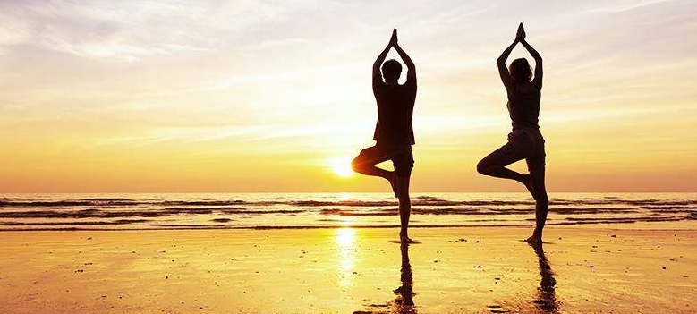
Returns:
[[[404,85],[388,86],[380,75],[373,77],[373,94],[378,103],[378,123],[373,140],[378,145],[414,144],[412,115],[416,100],[416,79],[407,78]]]

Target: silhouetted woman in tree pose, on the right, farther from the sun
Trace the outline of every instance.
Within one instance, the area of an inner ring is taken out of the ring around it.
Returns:
[[[506,69],[506,59],[520,43],[535,59],[535,76],[525,58],[515,59]],[[545,189],[545,140],[540,133],[540,90],[542,89],[542,57],[525,41],[523,23],[518,27],[514,42],[497,59],[498,74],[508,93],[508,113],[513,122],[513,131],[508,142],[477,165],[480,174],[521,182],[535,199],[535,231],[527,242],[542,242],[542,228],[547,220],[549,201]],[[529,174],[520,174],[506,165],[523,160],[528,164]]]

